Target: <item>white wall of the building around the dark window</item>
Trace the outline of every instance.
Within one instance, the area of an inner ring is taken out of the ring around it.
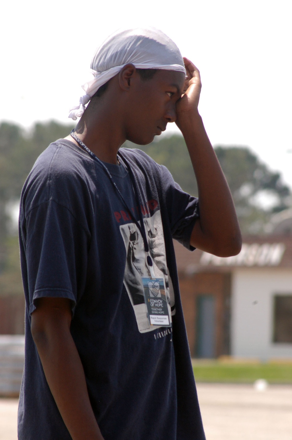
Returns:
[[[292,344],[273,343],[273,298],[292,294],[291,269],[236,269],[231,292],[231,355],[292,358]]]

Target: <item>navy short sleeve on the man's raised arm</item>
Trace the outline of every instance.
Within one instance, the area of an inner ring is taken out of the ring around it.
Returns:
[[[187,249],[190,246],[190,236],[193,226],[199,218],[199,202],[196,197],[187,194],[178,183],[175,183],[171,173],[166,167],[161,166],[163,198],[166,204],[168,218],[171,226],[172,237]]]

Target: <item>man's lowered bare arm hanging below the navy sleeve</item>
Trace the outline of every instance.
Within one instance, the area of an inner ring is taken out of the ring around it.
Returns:
[[[73,440],[104,440],[88,396],[83,366],[70,333],[66,298],[40,298],[31,331],[44,374]],[[51,423],[54,423],[51,420]]]

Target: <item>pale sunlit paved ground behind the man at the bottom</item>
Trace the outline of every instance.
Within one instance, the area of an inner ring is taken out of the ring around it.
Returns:
[[[292,386],[198,384],[207,440],[292,440]],[[16,440],[17,400],[0,399],[0,440]],[[135,440],[135,439],[133,439]]]

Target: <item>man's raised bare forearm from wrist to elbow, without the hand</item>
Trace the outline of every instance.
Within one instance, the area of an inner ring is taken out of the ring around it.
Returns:
[[[185,118],[180,129],[197,178],[200,200],[200,222],[194,228],[192,240],[199,240],[194,243],[196,247],[202,249],[207,245],[207,249],[203,250],[223,257],[236,254],[241,249],[241,232],[234,203],[201,116],[197,113]],[[203,245],[198,228],[204,239],[209,239],[207,242],[204,240]]]

